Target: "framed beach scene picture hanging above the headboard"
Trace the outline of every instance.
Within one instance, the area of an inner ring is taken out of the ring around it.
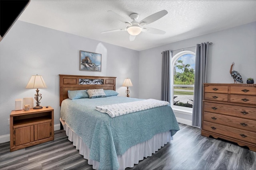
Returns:
[[[101,72],[101,54],[80,50],[80,70]]]

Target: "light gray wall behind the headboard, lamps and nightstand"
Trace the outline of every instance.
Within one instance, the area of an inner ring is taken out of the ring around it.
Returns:
[[[80,50],[102,54],[102,71],[80,71]],[[126,96],[122,83],[129,77],[134,85],[130,96],[138,98],[138,62],[138,51],[16,21],[0,42],[0,138],[7,135],[7,139],[10,134],[7,119],[15,109],[15,99],[34,98],[35,89],[25,88],[32,75],[43,76],[48,88],[39,89],[40,105],[54,108],[54,124],[58,125],[58,74],[115,76],[116,91],[121,96]]]

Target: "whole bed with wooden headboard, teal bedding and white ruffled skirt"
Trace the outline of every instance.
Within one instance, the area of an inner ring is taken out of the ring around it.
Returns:
[[[179,130],[170,104],[119,96],[115,91],[116,77],[63,74],[59,77],[60,121],[68,139],[93,169],[131,168],[144,157],[152,156]],[[105,96],[98,97],[98,93],[91,96],[92,91],[104,92]],[[159,105],[138,108],[135,112],[136,106],[128,105],[151,106],[146,102]],[[110,106],[120,107],[117,115],[104,112],[111,110]],[[122,112],[125,107],[132,111]]]

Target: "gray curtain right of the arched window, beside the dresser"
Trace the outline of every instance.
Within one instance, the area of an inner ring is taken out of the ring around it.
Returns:
[[[206,82],[209,42],[196,45],[192,125],[202,127],[203,83]]]

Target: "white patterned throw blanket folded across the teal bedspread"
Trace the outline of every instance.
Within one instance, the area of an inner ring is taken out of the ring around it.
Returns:
[[[140,100],[136,102],[96,106],[96,110],[102,113],[108,113],[110,117],[116,117],[116,116],[125,115],[128,113],[133,113],[136,111],[142,111],[142,110],[151,109],[154,107],[166,106],[166,105],[170,105],[170,103],[162,100],[147,99],[147,100]]]

